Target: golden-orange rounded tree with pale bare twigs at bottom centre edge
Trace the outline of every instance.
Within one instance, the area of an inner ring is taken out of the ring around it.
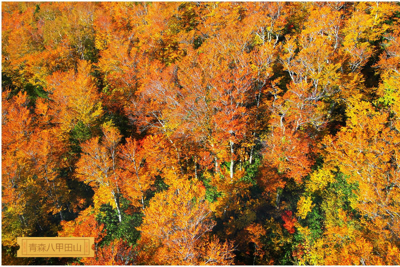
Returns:
[[[180,180],[177,187],[155,194],[138,228],[142,261],[154,264],[231,263],[232,245],[206,235],[215,223],[209,218],[205,190],[195,181]],[[161,212],[160,212],[161,211]]]

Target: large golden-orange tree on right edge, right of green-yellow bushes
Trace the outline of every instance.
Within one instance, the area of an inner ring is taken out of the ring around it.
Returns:
[[[334,139],[324,140],[326,164],[337,166],[349,183],[358,183],[353,208],[374,223],[370,230],[376,235],[389,231],[391,237],[398,236],[396,155],[400,136],[386,126],[387,113],[356,97],[350,104],[346,127]]]

